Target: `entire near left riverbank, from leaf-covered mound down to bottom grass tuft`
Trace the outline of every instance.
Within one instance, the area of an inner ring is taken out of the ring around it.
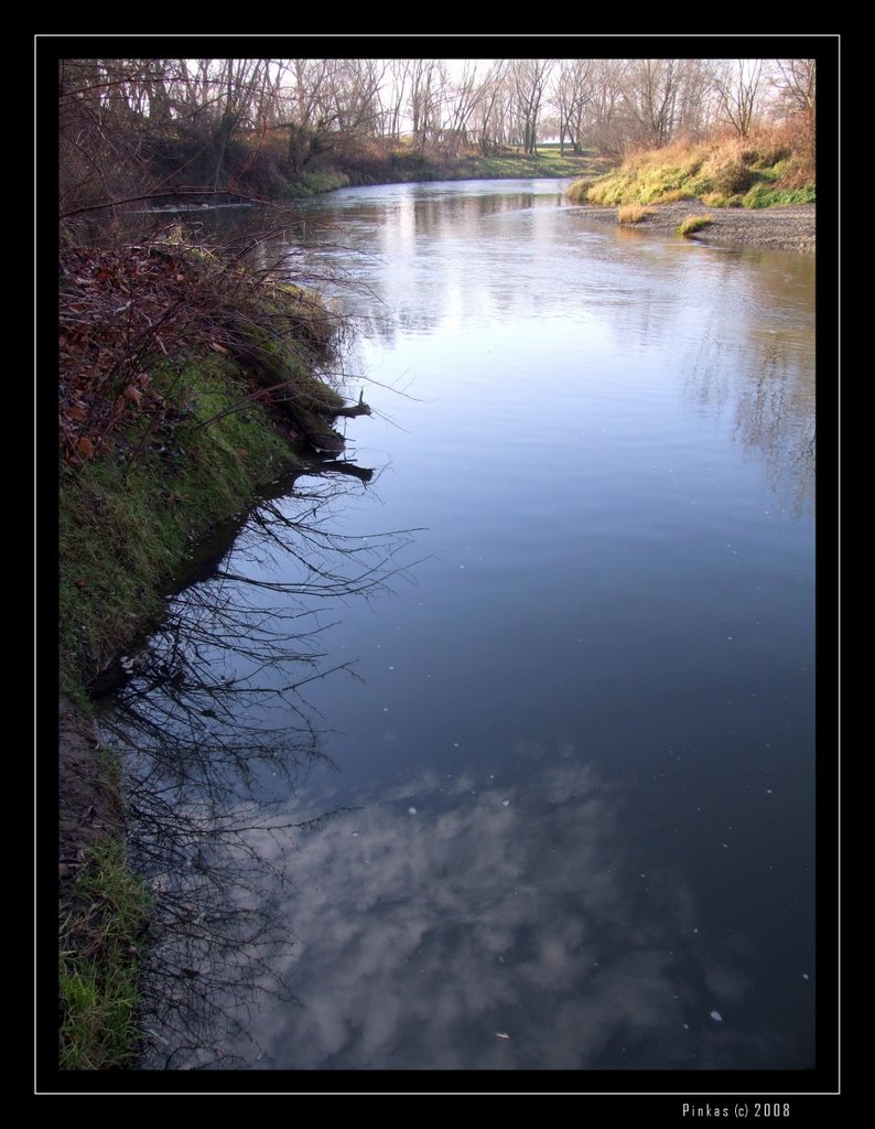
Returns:
[[[128,1066],[148,892],[131,873],[117,758],[89,688],[160,615],[218,522],[345,406],[320,377],[338,323],[313,294],[196,246],[67,244],[60,287],[59,1062]],[[122,668],[124,663],[122,662]]]

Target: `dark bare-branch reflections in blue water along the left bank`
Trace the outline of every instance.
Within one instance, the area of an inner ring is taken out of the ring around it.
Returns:
[[[239,1065],[225,1048],[248,1042],[246,1057],[256,1054],[252,1009],[265,994],[294,999],[279,971],[294,944],[281,912],[287,864],[300,833],[338,814],[289,816],[296,784],[331,764],[306,686],[355,676],[318,649],[331,625],[321,612],[385,594],[412,567],[401,559],[414,531],[334,532],[353,487],[322,473],[259,502],[230,551],[122,663],[102,727],[125,751],[131,854],[155,898],[146,1068]]]

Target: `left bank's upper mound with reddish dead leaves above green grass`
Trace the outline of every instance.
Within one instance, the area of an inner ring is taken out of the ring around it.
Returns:
[[[292,467],[294,439],[331,435],[343,401],[313,375],[327,310],[294,287],[165,247],[77,250],[65,282],[60,673],[81,703],[192,542]],[[115,316],[131,294],[142,327]]]

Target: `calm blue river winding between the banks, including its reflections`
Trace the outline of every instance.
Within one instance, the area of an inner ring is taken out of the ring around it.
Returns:
[[[299,235],[375,475],[242,516],[119,695],[147,1066],[811,1068],[814,257],[543,181]]]

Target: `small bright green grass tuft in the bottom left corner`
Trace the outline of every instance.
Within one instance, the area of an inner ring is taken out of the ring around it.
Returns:
[[[120,839],[94,847],[61,908],[59,1001],[62,1070],[112,1070],[137,1045],[138,978],[150,901]]]

